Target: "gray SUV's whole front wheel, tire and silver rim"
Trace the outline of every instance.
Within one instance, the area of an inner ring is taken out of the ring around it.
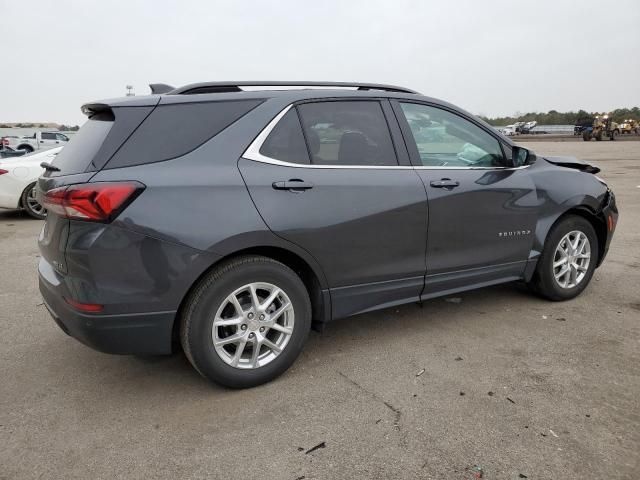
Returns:
[[[532,286],[549,300],[569,300],[591,281],[598,261],[598,237],[591,223],[577,215],[558,222],[549,232]]]

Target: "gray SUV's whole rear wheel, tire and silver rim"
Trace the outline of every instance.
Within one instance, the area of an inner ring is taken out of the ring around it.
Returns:
[[[310,327],[309,294],[296,273],[273,259],[245,256],[218,266],[194,288],[180,339],[203,376],[247,388],[287,370]]]

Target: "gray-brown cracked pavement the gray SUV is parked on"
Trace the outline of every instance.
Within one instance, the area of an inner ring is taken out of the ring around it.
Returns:
[[[597,160],[618,196],[580,298],[507,285],[361,315],[247,391],[65,336],[41,222],[0,213],[0,478],[639,478],[640,142],[529,146]]]

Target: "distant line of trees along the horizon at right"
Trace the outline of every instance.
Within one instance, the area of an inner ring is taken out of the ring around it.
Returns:
[[[621,123],[629,118],[640,121],[640,108],[616,108],[611,112],[604,112],[613,117],[614,122]],[[502,126],[511,125],[515,122],[530,122],[535,120],[539,125],[579,125],[583,123],[590,123],[596,115],[603,115],[603,113],[592,112],[589,113],[585,110],[578,110],[577,112],[558,112],[556,110],[549,110],[544,112],[530,112],[530,113],[516,113],[509,117],[486,117],[481,115],[484,121],[490,125]]]

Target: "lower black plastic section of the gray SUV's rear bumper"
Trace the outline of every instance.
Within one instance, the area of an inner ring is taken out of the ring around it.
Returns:
[[[44,304],[58,326],[88,347],[114,354],[171,353],[175,311],[136,314],[84,314],[63,299],[61,286],[52,284],[39,272]]]

